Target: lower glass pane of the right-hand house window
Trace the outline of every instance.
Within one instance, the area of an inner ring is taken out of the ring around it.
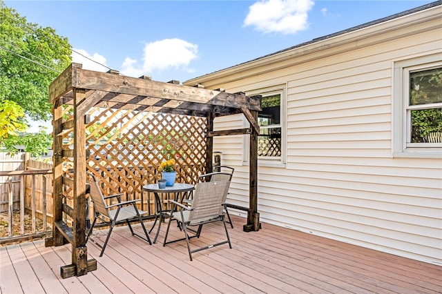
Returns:
[[[412,110],[411,143],[442,143],[442,108]]]

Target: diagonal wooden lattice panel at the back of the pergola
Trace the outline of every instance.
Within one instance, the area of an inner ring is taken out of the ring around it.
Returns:
[[[142,186],[160,178],[157,167],[174,158],[177,182],[196,183],[205,171],[206,119],[137,110],[94,108],[86,128],[88,171],[104,195],[140,198]]]

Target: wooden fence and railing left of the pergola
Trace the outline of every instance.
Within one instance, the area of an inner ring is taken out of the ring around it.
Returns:
[[[0,244],[48,235],[52,165],[29,159],[28,153],[0,153],[0,167]]]

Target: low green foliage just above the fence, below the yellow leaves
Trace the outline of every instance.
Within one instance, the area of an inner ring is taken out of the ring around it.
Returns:
[[[29,152],[32,157],[39,157],[42,153],[48,152],[48,148],[52,144],[52,137],[46,133],[45,128],[40,128],[39,133],[10,136],[3,140],[2,144],[6,151],[12,155],[20,151],[17,146],[23,146],[23,151]]]

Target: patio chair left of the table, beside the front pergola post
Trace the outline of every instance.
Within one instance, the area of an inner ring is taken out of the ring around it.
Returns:
[[[112,230],[117,224],[117,222],[126,221],[128,224],[128,227],[131,229],[132,235],[135,235],[137,237],[140,237],[141,239],[146,240],[149,244],[152,244],[151,239],[149,238],[149,235],[146,231],[146,227],[144,226],[143,220],[141,215],[146,213],[146,211],[138,210],[137,206],[135,205],[135,202],[140,201],[141,199],[133,199],[129,201],[121,201],[121,196],[123,194],[117,194],[117,195],[110,195],[110,196],[103,196],[102,190],[99,188],[99,184],[97,182],[97,179],[95,179],[95,176],[91,175],[93,177],[93,181],[90,181],[88,179],[88,184],[90,184],[90,200],[93,202],[94,210],[95,210],[95,217],[93,220],[92,225],[90,226],[90,229],[86,236],[86,242],[88,242],[88,239],[90,237],[90,234],[93,231],[93,228],[95,224],[97,223],[97,219],[100,219],[102,222],[108,224],[110,226],[108,235],[106,237],[106,241],[104,244],[99,244],[96,242],[93,238],[90,240],[97,244],[99,248],[102,248],[102,252],[100,253],[100,257],[102,257],[104,253],[104,249],[106,248],[108,244],[109,237],[111,237]],[[117,199],[117,203],[107,205],[106,199]],[[144,234],[146,237],[142,235],[138,235],[133,231],[133,228],[131,226],[131,220],[138,219],[140,221],[140,224],[143,228]]]

